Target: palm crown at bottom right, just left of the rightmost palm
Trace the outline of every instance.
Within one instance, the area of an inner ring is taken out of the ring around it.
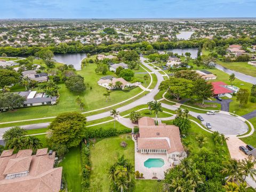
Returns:
[[[223,162],[221,173],[228,175],[227,181],[241,181],[243,180],[242,163],[236,159],[229,159],[229,161]]]

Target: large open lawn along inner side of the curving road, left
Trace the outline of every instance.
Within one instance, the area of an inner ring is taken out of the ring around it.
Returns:
[[[82,101],[85,103],[84,111],[90,111],[93,109],[99,109],[102,107],[114,105],[115,103],[129,99],[142,91],[139,87],[136,87],[130,92],[113,91],[111,92],[110,100],[106,102],[106,98],[103,97],[103,93],[106,92],[106,89],[104,87],[99,86],[97,84],[97,81],[99,81],[100,77],[102,76],[115,76],[115,74],[110,71],[108,71],[106,75],[95,74],[94,69],[95,64],[90,64],[83,68],[81,71],[77,71],[77,73],[83,76],[85,79],[84,81],[87,89],[84,93],[76,94],[70,92],[66,88],[65,84],[61,83],[59,84],[60,98],[57,105],[28,107],[16,109],[14,111],[7,111],[6,113],[0,114],[1,121],[9,122],[23,119],[51,117],[66,111],[81,111],[79,109],[79,106],[75,102],[75,99],[78,95],[82,98]],[[92,87],[92,90],[90,90],[90,87]]]

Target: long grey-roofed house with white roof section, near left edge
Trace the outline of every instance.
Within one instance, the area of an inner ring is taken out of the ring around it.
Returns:
[[[28,106],[41,106],[41,105],[53,105],[57,102],[57,97],[49,97],[45,93],[37,93],[36,91],[21,91],[17,92],[20,96],[24,97],[23,107]]]

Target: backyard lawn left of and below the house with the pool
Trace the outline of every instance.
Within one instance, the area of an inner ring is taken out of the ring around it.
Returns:
[[[120,146],[122,141],[128,144],[125,149]],[[131,135],[120,135],[119,137],[102,139],[95,143],[94,147],[91,146],[91,186],[100,182],[102,191],[108,191],[108,169],[122,155],[134,164],[134,142],[131,139]],[[136,180],[134,191],[153,192],[158,191],[160,186],[160,183],[155,180]]]

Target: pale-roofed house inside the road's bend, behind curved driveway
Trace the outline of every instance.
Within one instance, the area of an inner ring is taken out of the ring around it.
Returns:
[[[117,83],[120,82],[120,83]],[[101,77],[100,80],[98,81],[98,85],[106,87],[107,89],[125,89],[125,87],[130,87],[134,86],[135,83],[129,83],[125,81],[122,77],[115,78],[113,76],[106,76],[106,77]],[[111,86],[110,86],[111,85]]]

